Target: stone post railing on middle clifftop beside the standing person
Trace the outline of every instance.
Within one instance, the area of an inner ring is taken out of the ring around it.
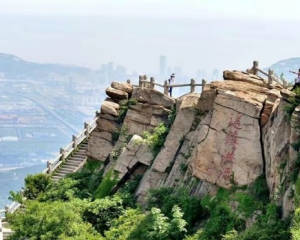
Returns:
[[[127,80],[127,83],[130,83],[130,80]],[[202,91],[206,85],[206,80],[202,79],[202,83],[196,83],[195,79],[191,79],[191,83],[188,84],[169,84],[168,80],[164,81],[164,84],[160,84],[160,83],[156,83],[155,82],[155,78],[154,77],[150,77],[150,80],[147,80],[147,76],[143,75],[143,76],[139,76],[139,85],[133,85],[134,87],[139,87],[139,88],[150,88],[150,89],[154,89],[155,86],[159,86],[164,88],[164,94],[168,95],[169,92],[169,88],[170,87],[191,87],[190,93],[195,92],[196,86],[200,86],[202,87]]]

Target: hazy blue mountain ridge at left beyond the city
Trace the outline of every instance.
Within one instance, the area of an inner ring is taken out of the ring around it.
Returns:
[[[0,78],[45,80],[50,76],[87,76],[91,70],[62,64],[39,64],[17,56],[0,53]]]

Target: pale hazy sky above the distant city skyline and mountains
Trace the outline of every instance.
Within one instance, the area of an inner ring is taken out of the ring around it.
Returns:
[[[300,56],[299,0],[0,0],[0,52],[128,70],[245,69]]]

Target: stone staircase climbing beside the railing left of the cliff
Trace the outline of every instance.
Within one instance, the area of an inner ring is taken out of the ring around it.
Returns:
[[[84,142],[80,145],[79,150],[75,152],[72,157],[69,157],[69,159],[53,173],[52,180],[54,182],[58,182],[68,173],[78,171],[84,165],[87,159],[86,152],[87,143]]]

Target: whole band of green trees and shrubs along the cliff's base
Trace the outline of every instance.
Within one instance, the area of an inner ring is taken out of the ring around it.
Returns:
[[[133,194],[140,177],[111,195],[100,169],[88,161],[58,183],[43,174],[28,176],[25,192],[31,197],[7,216],[15,231],[10,239],[298,239],[299,210],[290,233],[289,220],[268,200],[264,176],[252,186],[219,188],[215,197],[202,199],[182,188],[153,189],[142,208]]]

